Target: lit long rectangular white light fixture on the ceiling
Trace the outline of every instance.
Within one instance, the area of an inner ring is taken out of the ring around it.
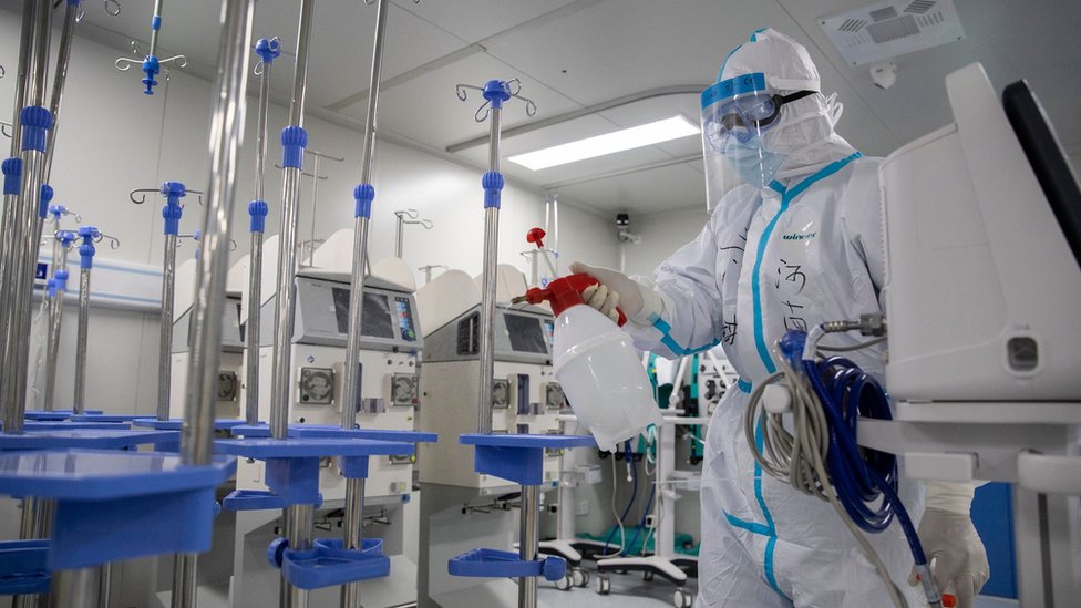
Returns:
[[[512,163],[516,163],[533,171],[566,165],[595,158],[606,154],[615,154],[625,150],[659,144],[689,135],[697,135],[699,127],[683,116],[672,116],[662,121],[621,128],[604,135],[586,137],[577,142],[569,142],[557,146],[546,147],[526,154],[517,154],[508,157]]]

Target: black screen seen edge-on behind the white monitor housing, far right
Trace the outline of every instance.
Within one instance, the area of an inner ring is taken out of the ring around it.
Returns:
[[[1002,106],[1073,257],[1081,262],[1081,190],[1043,106],[1023,80],[1002,91]]]

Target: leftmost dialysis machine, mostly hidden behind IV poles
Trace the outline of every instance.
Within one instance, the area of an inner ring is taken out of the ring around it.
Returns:
[[[173,362],[169,383],[169,418],[184,418],[184,393],[187,390],[187,362],[192,306],[194,303],[196,260],[189,259],[176,268],[176,290],[173,320]],[[222,358],[218,362],[218,391],[214,416],[243,418],[240,380],[244,378],[244,333],[240,322],[240,299],[247,286],[247,258],[233,268],[226,280],[225,312],[222,318]]]

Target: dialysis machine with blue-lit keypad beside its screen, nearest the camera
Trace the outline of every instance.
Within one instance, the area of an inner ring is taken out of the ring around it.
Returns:
[[[274,238],[274,237],[271,237]],[[269,239],[268,239],[269,243]],[[352,231],[341,230],[316,250],[313,264],[301,267],[296,278],[296,320],[292,334],[292,378],[289,424],[341,423],[343,364],[349,326]],[[264,277],[277,272],[267,259]],[[268,268],[270,267],[270,268]],[[271,281],[264,280],[259,348],[259,419],[270,411],[276,297]],[[397,258],[378,261],[364,279],[361,328],[361,391],[357,423],[361,429],[412,431],[421,400],[419,357],[423,341],[419,330],[412,271]],[[397,606],[416,597],[416,506],[413,503],[412,456],[372,457],[364,491],[366,537],[383,539],[391,556],[390,577],[364,583],[364,604]],[[237,463],[237,487],[265,490],[264,463]],[[346,480],[331,460],[320,471],[322,506],[316,513],[316,535],[340,537]],[[267,544],[279,534],[279,511],[237,514],[234,597],[239,607],[277,602],[278,570],[266,560]],[[406,524],[406,519],[410,522]],[[280,532],[280,530],[279,530]],[[243,592],[238,592],[243,589]],[[312,591],[310,606],[338,606],[338,588]]]

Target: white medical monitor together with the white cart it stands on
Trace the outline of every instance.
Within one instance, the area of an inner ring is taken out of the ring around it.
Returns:
[[[946,89],[955,123],[882,167],[896,421],[861,421],[859,442],[910,477],[1015,483],[1021,606],[1072,606],[1081,195],[1023,82],[1002,103],[972,64]]]

